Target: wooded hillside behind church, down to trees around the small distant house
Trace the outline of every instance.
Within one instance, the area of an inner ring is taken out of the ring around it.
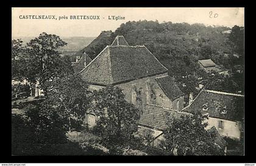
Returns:
[[[243,74],[233,78],[221,75],[212,77],[199,69],[197,60],[211,58],[222,69],[230,69],[235,65],[243,65],[243,27],[237,27],[239,37],[229,27],[212,27],[203,24],[187,24],[157,21],[129,21],[121,24],[115,32],[103,31],[91,44],[77,52],[83,52],[93,59],[105,46],[110,45],[116,35],[123,35],[130,46],[144,45],[153,55],[168,68],[168,74],[176,78],[180,89],[185,94],[196,92],[195,87],[200,79],[208,80],[208,89],[226,92],[243,92]],[[230,35],[240,42],[230,40]],[[239,46],[235,46],[240,43]],[[239,47],[240,49],[236,49]],[[240,54],[235,58],[233,54]],[[218,81],[216,81],[218,80]],[[235,82],[235,87],[230,83]]]

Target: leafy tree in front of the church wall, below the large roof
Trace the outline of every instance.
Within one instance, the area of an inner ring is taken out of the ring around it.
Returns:
[[[123,145],[137,131],[139,110],[126,102],[121,89],[107,86],[94,91],[97,131],[110,145]]]

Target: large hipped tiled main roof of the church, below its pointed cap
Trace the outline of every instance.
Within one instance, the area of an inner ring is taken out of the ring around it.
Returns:
[[[145,46],[113,45],[105,47],[80,74],[89,83],[114,85],[167,71]]]

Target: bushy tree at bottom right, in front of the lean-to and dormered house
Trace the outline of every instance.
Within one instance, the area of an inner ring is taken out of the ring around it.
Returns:
[[[205,130],[205,118],[197,112],[193,116],[169,119],[168,128],[164,131],[163,146],[170,154],[177,151],[177,155],[222,154],[215,145],[215,134]]]

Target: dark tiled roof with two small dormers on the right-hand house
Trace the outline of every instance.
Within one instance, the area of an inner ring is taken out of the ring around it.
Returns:
[[[244,116],[244,95],[202,90],[183,111],[201,111],[210,117],[241,122]]]

